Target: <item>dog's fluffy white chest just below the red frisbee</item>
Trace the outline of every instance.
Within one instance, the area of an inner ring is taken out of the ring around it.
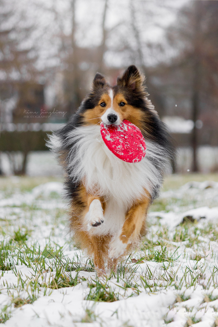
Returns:
[[[117,158],[105,145],[99,126],[80,127],[72,136],[77,142],[69,170],[87,192],[105,200],[115,198],[126,207],[149,189],[152,174],[146,156],[139,163]]]

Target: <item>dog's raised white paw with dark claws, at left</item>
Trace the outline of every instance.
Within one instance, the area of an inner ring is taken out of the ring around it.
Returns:
[[[87,221],[88,231],[92,227],[97,227],[104,222],[103,209],[98,199],[94,199],[90,204],[89,212],[86,214],[85,219]]]

